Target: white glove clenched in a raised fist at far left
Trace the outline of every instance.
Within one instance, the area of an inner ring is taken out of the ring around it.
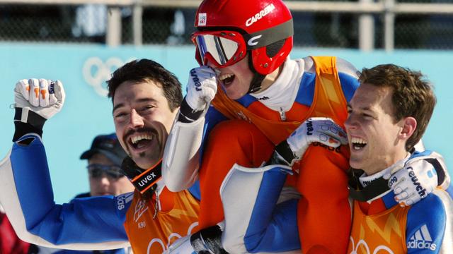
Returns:
[[[62,109],[64,98],[63,84],[59,80],[23,79],[14,88],[15,107],[34,111],[45,119],[50,119]],[[22,121],[26,122],[26,119]]]

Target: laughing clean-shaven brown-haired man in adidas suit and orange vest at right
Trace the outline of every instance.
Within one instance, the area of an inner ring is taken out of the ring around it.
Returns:
[[[360,83],[348,104],[345,128],[356,176],[352,184],[373,195],[354,201],[348,253],[451,253],[453,202],[446,191],[438,188],[420,202],[401,207],[394,193],[376,185],[405,167],[405,181],[418,182],[408,157],[435,107],[432,87],[421,73],[393,64],[364,68]],[[395,181],[390,179],[391,184]],[[390,230],[376,230],[384,228]]]

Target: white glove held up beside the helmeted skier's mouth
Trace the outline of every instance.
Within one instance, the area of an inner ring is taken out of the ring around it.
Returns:
[[[185,101],[193,111],[203,111],[209,107],[217,92],[217,78],[214,70],[201,66],[190,70]]]

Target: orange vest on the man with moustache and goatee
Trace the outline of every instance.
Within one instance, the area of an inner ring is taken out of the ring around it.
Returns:
[[[178,238],[198,230],[200,202],[189,191],[172,193],[164,187],[159,202],[161,209],[156,211],[156,195],[146,200],[134,192],[125,221],[134,253],[163,253]]]

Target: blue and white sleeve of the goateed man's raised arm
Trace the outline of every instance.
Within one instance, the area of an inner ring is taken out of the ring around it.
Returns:
[[[0,162],[0,202],[16,234],[39,246],[112,249],[129,246],[123,227],[132,193],[76,198],[56,205],[38,135],[27,134]]]

